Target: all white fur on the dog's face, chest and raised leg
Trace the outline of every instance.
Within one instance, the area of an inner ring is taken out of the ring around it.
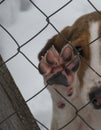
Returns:
[[[99,23],[90,23],[89,24],[89,32],[90,32],[90,41],[93,41],[98,37],[98,29]],[[90,66],[92,66],[95,70],[101,73],[100,66],[100,44],[99,40],[90,45],[91,50],[91,62]],[[73,105],[79,110],[83,105],[89,102],[88,94],[91,91],[92,87],[94,87],[95,83],[101,81],[99,76],[95,74],[89,67],[84,75],[84,84],[83,88],[79,89],[79,79],[75,74],[75,81],[72,86],[74,89],[74,93],[71,97],[67,96],[67,91],[64,86],[49,86],[48,89],[51,93],[53,100],[53,119],[52,119],[52,128],[51,130],[58,130],[59,128],[66,125],[70,122],[74,116],[76,115],[75,108],[70,105],[64,98],[62,98],[56,91],[57,89],[68,101],[72,102]],[[55,89],[54,89],[55,88]],[[65,107],[60,109],[57,107],[58,102],[65,103]],[[83,108],[79,115],[94,129],[101,130],[101,110],[95,110],[92,107],[92,104],[89,104],[85,108]],[[90,130],[90,128],[77,116],[75,120],[73,120],[69,125],[64,127],[62,130]]]

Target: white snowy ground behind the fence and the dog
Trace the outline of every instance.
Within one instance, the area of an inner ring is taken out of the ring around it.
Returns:
[[[49,16],[68,1],[69,0],[35,0],[35,4]],[[92,2],[97,9],[101,10],[101,1],[92,0]],[[89,5],[87,0],[74,0],[64,9],[52,16],[50,20],[60,31],[65,26],[72,25],[79,16],[92,11],[94,11],[94,9]],[[7,27],[7,29],[18,43],[22,45],[37,34],[46,24],[45,17],[35,7],[32,7],[29,11],[20,13],[17,22]],[[0,32],[2,34],[0,36],[0,52],[4,60],[7,60],[17,52],[17,45],[2,29]],[[47,40],[54,34],[56,34],[56,31],[49,25],[35,39],[22,47],[21,51],[38,66],[37,54]],[[42,76],[20,53],[7,62],[7,66],[25,100],[35,95],[44,87]],[[49,128],[52,105],[48,91],[44,90],[41,94],[29,101],[28,105],[35,118]],[[45,129],[41,127],[41,130]]]

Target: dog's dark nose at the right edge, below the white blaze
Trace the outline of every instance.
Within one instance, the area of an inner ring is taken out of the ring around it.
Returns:
[[[89,93],[89,99],[95,109],[101,109],[101,87],[94,87]]]

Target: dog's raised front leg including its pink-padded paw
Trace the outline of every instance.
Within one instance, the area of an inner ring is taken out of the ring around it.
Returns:
[[[79,56],[75,54],[73,48],[68,44],[63,47],[60,54],[53,46],[41,58],[39,71],[43,74],[45,82],[49,85],[48,89],[53,99],[51,130],[61,128],[74,116],[72,115],[73,112],[71,112],[70,104],[68,105],[55,89],[59,90],[66,98],[70,97],[73,93],[71,86],[73,85],[78,68]],[[66,127],[63,130],[73,130],[73,128]]]

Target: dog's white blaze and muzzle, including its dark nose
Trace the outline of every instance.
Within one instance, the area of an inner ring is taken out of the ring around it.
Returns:
[[[89,24],[89,59],[87,68],[83,75],[83,84],[81,85],[81,98],[87,103],[91,101],[93,108],[101,109],[101,40],[97,39],[100,36],[100,23],[94,22]],[[94,41],[95,42],[92,42]],[[85,56],[84,56],[85,57]],[[81,66],[83,69],[83,66]],[[81,71],[81,70],[79,70]]]

